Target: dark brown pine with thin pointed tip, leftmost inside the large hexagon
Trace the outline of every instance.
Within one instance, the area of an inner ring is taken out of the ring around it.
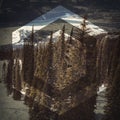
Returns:
[[[30,41],[24,41],[24,80],[31,85],[34,78],[34,26],[32,26],[32,33]]]

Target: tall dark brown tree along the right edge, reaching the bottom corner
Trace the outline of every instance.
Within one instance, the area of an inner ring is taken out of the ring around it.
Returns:
[[[120,119],[120,39],[116,40],[116,47],[112,50],[111,64],[109,64],[109,81],[107,88],[107,105],[103,120]]]

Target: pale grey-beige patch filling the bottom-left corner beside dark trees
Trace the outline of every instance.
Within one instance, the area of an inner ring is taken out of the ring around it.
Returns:
[[[0,71],[3,63],[0,61]],[[23,103],[24,101],[15,101],[11,95],[8,96],[3,81],[0,83],[0,120],[29,120],[29,108]]]

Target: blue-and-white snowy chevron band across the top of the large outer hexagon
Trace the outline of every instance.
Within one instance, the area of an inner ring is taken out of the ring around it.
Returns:
[[[49,25],[50,23],[56,21],[57,19],[65,20],[66,22],[78,28],[81,27],[80,24],[83,21],[82,17],[64,8],[63,6],[58,6],[52,9],[51,11],[47,12],[46,14],[36,18],[35,20],[29,22],[28,24],[14,31],[12,33],[12,43],[16,44],[17,42],[24,40],[25,37],[30,35],[33,25],[34,25],[34,32],[36,32],[38,30],[41,30],[45,26]],[[87,21],[87,24],[88,24],[87,28],[89,29],[90,35],[99,35],[102,33],[106,33],[105,30],[99,28],[98,26],[92,24],[89,21]]]

